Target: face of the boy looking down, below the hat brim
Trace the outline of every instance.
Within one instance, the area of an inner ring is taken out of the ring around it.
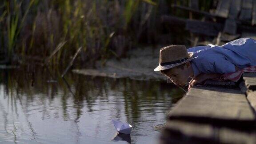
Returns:
[[[191,65],[188,65],[185,64],[183,68],[171,68],[167,72],[165,72],[165,75],[168,76],[174,84],[184,85],[186,84],[189,77],[188,69],[191,68]]]

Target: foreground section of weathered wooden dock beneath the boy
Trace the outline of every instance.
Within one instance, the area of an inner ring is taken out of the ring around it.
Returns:
[[[168,113],[161,144],[256,144],[256,73],[240,88],[191,88]],[[241,85],[241,84],[240,84]]]

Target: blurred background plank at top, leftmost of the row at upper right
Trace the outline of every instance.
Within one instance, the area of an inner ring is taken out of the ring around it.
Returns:
[[[216,8],[216,15],[227,18],[229,13],[231,0],[219,0]]]

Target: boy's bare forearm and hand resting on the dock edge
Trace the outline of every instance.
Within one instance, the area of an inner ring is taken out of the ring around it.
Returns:
[[[197,83],[201,83],[207,79],[219,78],[220,76],[221,76],[221,74],[204,74],[204,73],[200,74],[200,75],[196,76],[196,78],[190,80],[188,90],[190,88],[192,88],[192,86],[194,86]]]

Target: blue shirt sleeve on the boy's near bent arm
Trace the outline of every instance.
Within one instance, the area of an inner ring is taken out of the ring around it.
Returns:
[[[222,55],[207,56],[201,59],[200,63],[201,73],[218,73],[226,74],[236,72],[235,65],[225,59]]]

